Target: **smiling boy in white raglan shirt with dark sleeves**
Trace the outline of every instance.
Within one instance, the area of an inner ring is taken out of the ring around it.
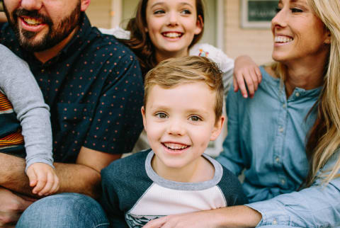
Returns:
[[[247,202],[236,176],[203,154],[222,130],[221,72],[205,57],[168,59],[145,77],[142,116],[152,149],[101,172],[111,227]]]

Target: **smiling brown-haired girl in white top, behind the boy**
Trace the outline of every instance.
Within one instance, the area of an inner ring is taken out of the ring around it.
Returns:
[[[102,33],[115,35],[135,52],[143,74],[164,59],[199,55],[212,59],[220,67],[225,94],[234,70],[234,84],[238,84],[235,88],[239,87],[244,98],[248,97],[244,86],[246,81],[249,96],[254,96],[261,81],[259,67],[249,57],[239,57],[234,69],[234,61],[222,50],[212,45],[198,44],[203,36],[204,21],[203,0],[141,0],[127,30],[100,30]]]

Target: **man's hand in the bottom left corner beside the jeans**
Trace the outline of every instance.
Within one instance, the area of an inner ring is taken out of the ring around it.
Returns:
[[[15,227],[19,217],[35,200],[22,198],[6,188],[0,187],[0,227]]]

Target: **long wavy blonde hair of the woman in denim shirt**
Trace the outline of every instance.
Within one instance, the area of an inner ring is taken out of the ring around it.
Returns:
[[[331,34],[329,58],[324,66],[324,84],[316,106],[317,119],[307,137],[306,153],[310,169],[304,183],[309,187],[316,178],[324,183],[339,177],[340,159],[327,171],[318,171],[327,164],[340,146],[340,1],[306,0],[309,6]],[[287,69],[283,64],[274,63],[272,69],[285,79]],[[312,110],[311,110],[312,111]]]

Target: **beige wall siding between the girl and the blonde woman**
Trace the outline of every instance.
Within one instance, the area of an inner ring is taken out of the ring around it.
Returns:
[[[271,62],[271,30],[241,28],[239,2],[225,0],[225,52],[232,58],[249,55],[257,64]]]

